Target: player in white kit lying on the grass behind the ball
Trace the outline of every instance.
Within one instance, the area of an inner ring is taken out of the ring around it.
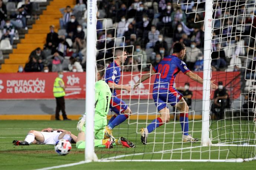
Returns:
[[[67,130],[46,128],[41,130],[41,132],[29,130],[24,140],[13,140],[13,145],[30,145],[30,143],[55,145],[60,139],[68,140],[70,143],[76,143],[76,138],[75,135]]]

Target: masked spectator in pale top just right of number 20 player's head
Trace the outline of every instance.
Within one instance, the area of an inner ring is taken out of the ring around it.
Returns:
[[[193,70],[197,61],[197,57],[202,53],[199,48],[196,47],[196,42],[192,42],[190,47],[186,47],[186,64],[190,70]]]

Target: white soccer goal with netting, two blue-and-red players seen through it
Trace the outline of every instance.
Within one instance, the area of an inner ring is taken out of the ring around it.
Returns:
[[[86,109],[94,107],[94,99],[89,101],[93,86],[88,71],[96,63],[104,65],[105,80],[112,93],[116,89],[108,127],[115,139],[125,137],[135,147],[116,143],[113,149],[93,150],[88,142],[87,159],[92,159],[89,152],[101,161],[256,159],[255,4],[255,0],[106,0],[97,1],[96,9],[95,2],[88,1]],[[181,62],[172,59],[177,42],[186,48]],[[203,84],[192,80],[188,70],[203,78]],[[168,76],[173,79],[164,82]],[[148,79],[134,89],[143,77]],[[213,80],[217,89],[211,86]],[[167,113],[165,106],[170,114],[162,112],[160,117],[159,110]],[[86,126],[90,121],[87,115]]]

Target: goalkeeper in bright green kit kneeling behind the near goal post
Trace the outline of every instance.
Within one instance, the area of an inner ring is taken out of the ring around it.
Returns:
[[[104,139],[105,126],[107,125],[107,115],[112,93],[108,84],[102,80],[102,77],[104,76],[104,66],[97,64],[97,70],[97,82],[95,83],[94,146],[109,149],[113,148],[114,145],[135,147],[132,142],[129,142],[124,137],[120,137],[119,139]],[[85,148],[85,119],[86,115],[84,114],[76,126],[76,128],[79,130],[76,140],[76,148],[78,149]]]

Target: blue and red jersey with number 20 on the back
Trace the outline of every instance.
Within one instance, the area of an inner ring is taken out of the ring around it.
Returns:
[[[157,92],[159,89],[161,93],[167,91],[172,92],[175,89],[173,84],[178,72],[182,71],[186,74],[190,71],[186,63],[176,55],[164,57],[153,69],[156,73],[159,73],[155,78],[153,92]]]

